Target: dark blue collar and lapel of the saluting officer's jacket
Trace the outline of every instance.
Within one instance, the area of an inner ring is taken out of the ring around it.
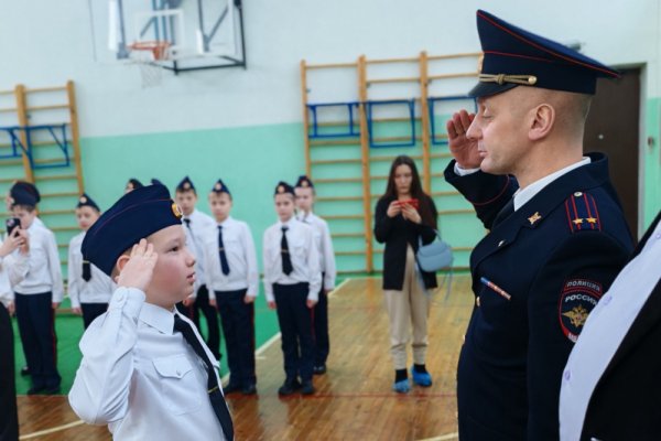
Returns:
[[[608,180],[608,160],[603,153],[589,153],[592,162],[574,169],[551,182],[485,236],[470,255],[475,269],[487,257],[507,249],[523,228],[534,229],[575,192],[588,191]]]

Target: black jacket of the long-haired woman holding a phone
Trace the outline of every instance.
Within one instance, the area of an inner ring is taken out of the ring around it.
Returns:
[[[438,216],[436,205],[431,197],[424,196],[434,219]],[[388,206],[395,197],[381,197],[375,213],[375,237],[379,244],[386,244],[383,250],[383,289],[401,291],[404,284],[407,263],[407,245],[418,251],[419,238],[424,245],[431,244],[436,237],[434,226],[415,224],[404,219],[400,214],[388,217]],[[422,203],[422,201],[421,201]],[[421,271],[422,281],[426,289],[436,288],[436,273]]]

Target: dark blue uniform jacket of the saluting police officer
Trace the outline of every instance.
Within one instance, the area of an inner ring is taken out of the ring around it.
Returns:
[[[559,439],[563,368],[632,249],[608,160],[590,158],[496,224],[516,180],[457,176],[454,161],[445,170],[490,229],[470,256],[476,303],[457,367],[462,441]]]

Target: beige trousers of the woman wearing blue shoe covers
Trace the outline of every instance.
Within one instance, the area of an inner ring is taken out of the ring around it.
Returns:
[[[407,368],[410,326],[413,327],[413,363],[424,364],[431,299],[422,284],[422,279],[415,272],[415,255],[410,245],[407,247],[407,268],[402,290],[384,290],[383,294],[390,318],[390,354],[394,368]]]

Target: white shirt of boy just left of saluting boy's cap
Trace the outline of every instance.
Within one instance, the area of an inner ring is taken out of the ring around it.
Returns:
[[[91,279],[83,280],[83,252],[80,246],[85,239],[86,232],[72,237],[68,247],[68,297],[72,308],[80,308],[83,303],[108,303],[117,286],[108,275],[90,263]]]

